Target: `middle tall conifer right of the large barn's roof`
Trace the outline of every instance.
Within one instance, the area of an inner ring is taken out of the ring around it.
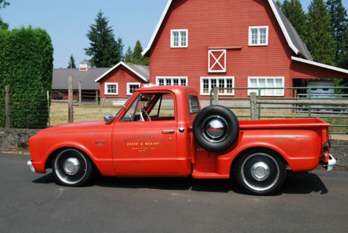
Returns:
[[[333,65],[335,42],[330,30],[330,16],[323,0],[313,0],[308,7],[306,45],[314,61]]]

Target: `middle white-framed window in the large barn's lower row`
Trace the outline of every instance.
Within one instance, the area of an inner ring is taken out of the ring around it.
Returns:
[[[200,77],[200,95],[210,95],[214,87],[234,88],[235,77]],[[219,90],[219,95],[235,95],[233,89]]]

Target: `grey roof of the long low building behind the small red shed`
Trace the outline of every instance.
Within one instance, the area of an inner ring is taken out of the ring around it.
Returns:
[[[100,77],[110,68],[90,68],[88,71],[79,71],[79,69],[54,69],[52,79],[53,90],[68,90],[68,76],[72,75],[74,89],[79,87],[81,81],[82,90],[99,90],[99,83],[95,79]]]

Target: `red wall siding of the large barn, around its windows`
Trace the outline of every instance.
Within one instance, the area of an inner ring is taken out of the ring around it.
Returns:
[[[268,46],[248,46],[249,26],[269,26]],[[171,48],[171,29],[189,29],[188,48]],[[208,73],[208,47],[242,49],[227,51],[226,73]],[[150,83],[184,76],[200,90],[200,77],[235,77],[235,87],[247,87],[248,77],[285,77],[285,86],[292,86],[292,55],[268,1],[177,0],[150,50]],[[246,93],[236,90],[235,96]]]

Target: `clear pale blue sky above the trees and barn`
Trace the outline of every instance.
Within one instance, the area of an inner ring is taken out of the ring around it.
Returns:
[[[167,0],[9,0],[10,6],[2,9],[1,17],[10,29],[34,26],[47,30],[54,45],[54,67],[68,66],[70,54],[76,65],[84,58],[88,47],[86,33],[99,10],[109,17],[116,36],[134,47],[140,40],[146,47]],[[310,0],[302,0],[307,10]],[[348,0],[343,0],[348,8]]]

